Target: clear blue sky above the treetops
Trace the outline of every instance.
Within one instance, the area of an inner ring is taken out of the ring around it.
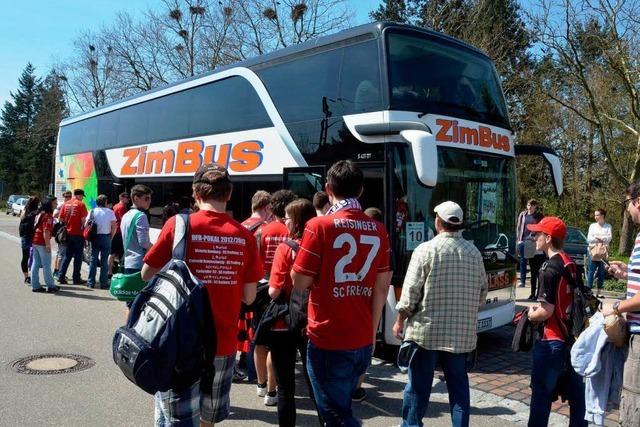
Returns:
[[[380,0],[348,0],[356,11],[356,24]],[[117,12],[140,14],[153,0],[0,0],[0,108],[18,86],[18,77],[31,62],[42,76],[71,56],[73,40],[85,30],[113,21]]]

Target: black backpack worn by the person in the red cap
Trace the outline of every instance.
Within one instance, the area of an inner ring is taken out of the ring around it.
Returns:
[[[567,282],[567,286],[571,290],[572,300],[571,304],[567,308],[566,321],[560,320],[560,325],[563,327],[563,333],[568,339],[567,343],[573,345],[578,336],[589,325],[589,319],[596,314],[600,308],[602,308],[602,302],[593,295],[591,289],[586,287],[582,282],[582,277],[571,274],[569,269],[570,265],[575,263],[564,253],[561,254],[564,265],[562,270],[559,271],[553,264],[547,264],[544,266],[546,269],[555,270],[562,278]],[[554,316],[556,311],[553,311]]]

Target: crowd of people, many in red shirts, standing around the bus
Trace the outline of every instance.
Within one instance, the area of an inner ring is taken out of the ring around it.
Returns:
[[[157,393],[157,426],[212,425],[226,419],[238,350],[253,361],[256,392],[265,405],[277,406],[281,426],[296,425],[298,353],[320,422],[327,426],[360,425],[351,404],[371,361],[391,277],[389,237],[380,212],[364,211],[358,201],[363,184],[362,171],[350,161],[340,161],[327,173],[326,193],[318,193],[313,201],[289,190],[274,194],[260,191],[252,199],[251,217],[239,223],[227,214],[233,190],[227,170],[210,164],[196,172],[192,187],[196,203],[183,211],[190,213],[186,262],[209,296],[217,336],[215,375],[210,383],[198,381],[186,389]],[[55,197],[42,201],[30,198],[20,223],[25,282],[33,292],[57,292],[54,275],[66,284],[66,272],[73,265],[74,284],[106,287],[114,259],[119,259],[125,274],[140,273],[142,279],[150,280],[171,259],[174,216],[182,211],[167,214],[152,244],[146,214],[151,196],[149,187],[135,185],[130,194],[120,194],[113,209],[107,207],[107,197],[100,195],[90,211],[83,203],[81,189],[65,193],[60,206]],[[638,224],[639,206],[640,183],[636,183],[627,191],[625,208]],[[486,299],[487,274],[479,250],[462,236],[465,225],[460,205],[444,201],[435,207],[434,214],[437,235],[412,254],[393,326],[393,333],[403,341],[398,365],[409,373],[402,425],[423,425],[434,372],[440,365],[448,387],[452,424],[468,426],[467,356],[476,347],[478,310]],[[631,335],[621,423],[639,425],[634,410],[638,396],[629,390],[638,388],[637,375],[631,371],[640,361],[640,345],[634,341],[635,333],[640,332],[640,234],[629,265],[606,263],[611,226],[603,209],[597,209],[594,218],[588,233],[587,284],[589,288],[595,284],[599,294],[606,270],[628,281],[629,299],[603,314],[627,313]],[[94,235],[85,281],[80,265],[87,228],[94,229]],[[59,233],[60,229],[64,232]],[[572,304],[569,289],[578,279],[575,263],[563,251],[567,227],[560,218],[541,215],[537,202],[529,200],[516,231],[521,284],[525,283],[527,260],[531,268],[530,299],[535,304],[528,310],[528,318],[541,325],[533,349],[529,425],[547,425],[560,382],[569,389],[570,425],[587,425],[584,383],[567,367],[573,343],[565,325]],[[54,235],[64,238],[59,242],[61,261],[52,273]],[[258,304],[261,299],[263,303]],[[294,299],[303,301],[304,324],[292,329],[284,318],[275,318],[253,335],[266,317],[261,311],[265,302]],[[238,334],[239,325],[247,329],[243,337]]]

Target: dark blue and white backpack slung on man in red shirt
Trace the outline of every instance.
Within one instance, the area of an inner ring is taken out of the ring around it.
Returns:
[[[176,215],[172,260],[133,301],[113,337],[113,360],[135,385],[155,394],[213,381],[215,328],[202,283],[184,262],[189,216]]]

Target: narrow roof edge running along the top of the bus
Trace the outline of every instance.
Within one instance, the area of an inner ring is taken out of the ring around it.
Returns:
[[[190,82],[193,80],[197,80],[197,79],[201,79],[203,77],[206,76],[210,76],[213,74],[217,74],[220,73],[224,70],[228,70],[231,68],[235,68],[235,67],[244,67],[244,68],[251,68],[251,67],[255,67],[257,65],[261,65],[261,64],[265,64],[265,63],[269,63],[269,62],[274,62],[277,61],[279,59],[282,58],[286,58],[286,57],[290,57],[290,56],[294,56],[297,55],[299,53],[305,52],[305,51],[309,51],[309,50],[313,50],[314,48],[320,48],[322,46],[326,46],[326,45],[331,45],[331,44],[335,44],[335,43],[339,43],[341,41],[345,41],[345,40],[349,40],[349,39],[353,39],[353,38],[357,38],[360,36],[366,36],[366,35],[371,35],[372,37],[379,37],[380,35],[382,35],[382,32],[386,29],[386,28],[398,28],[398,29],[406,29],[406,30],[411,30],[411,31],[415,31],[415,32],[421,32],[424,34],[428,34],[430,36],[433,37],[437,37],[443,40],[447,40],[449,42],[458,44],[462,47],[465,47],[467,49],[473,50],[474,52],[487,57],[487,55],[481,51],[480,49],[467,44],[461,40],[458,40],[456,38],[447,36],[446,34],[442,34],[439,33],[437,31],[433,31],[427,28],[422,28],[422,27],[416,27],[414,25],[407,25],[407,24],[399,24],[397,22],[371,22],[368,24],[363,24],[363,25],[359,25],[357,27],[353,27],[353,28],[349,28],[346,30],[342,30],[339,31],[335,34],[331,34],[331,35],[327,35],[327,36],[323,36],[323,37],[318,37],[316,39],[312,39],[309,41],[306,41],[304,43],[299,43],[296,45],[292,45],[292,46],[288,46],[286,48],[283,49],[279,49],[277,51],[271,52],[271,53],[267,53],[264,55],[260,55],[260,56],[256,56],[254,58],[250,58],[244,61],[240,61],[240,62],[234,62],[232,64],[229,65],[225,65],[222,67],[218,67],[214,70],[211,70],[209,72],[206,73],[202,73],[199,74],[197,76],[193,76],[190,77],[188,79],[183,79],[183,80],[179,80],[176,81],[174,83],[170,83],[168,85],[163,85],[163,86],[159,86],[157,88],[148,90],[148,91],[144,91],[144,92],[140,92],[136,95],[132,95],[129,96],[127,98],[123,98],[121,100],[109,103],[109,104],[105,104],[103,106],[100,106],[98,108],[95,108],[93,110],[89,110],[89,111],[85,111],[83,113],[77,114],[75,116],[69,117],[64,119],[61,123],[60,126],[65,126],[71,123],[75,123],[84,119],[88,119],[90,117],[94,117],[94,116],[99,116],[100,114],[106,113],[108,111],[113,111],[113,110],[117,110],[118,109],[118,105],[119,104],[127,104],[127,105],[132,105],[135,103],[132,103],[131,101],[135,100],[136,98],[145,98],[145,100],[148,99],[148,96],[155,93],[155,92],[159,92],[159,91],[165,91],[167,89],[170,89],[174,86],[178,86],[178,85],[182,85],[186,82]],[[141,101],[142,102],[142,101]]]

